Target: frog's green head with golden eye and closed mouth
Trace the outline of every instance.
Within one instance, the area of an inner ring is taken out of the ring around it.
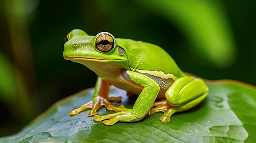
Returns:
[[[87,62],[99,62],[129,68],[124,49],[117,46],[115,37],[108,32],[90,36],[82,30],[72,30],[67,34],[63,57],[85,66]]]

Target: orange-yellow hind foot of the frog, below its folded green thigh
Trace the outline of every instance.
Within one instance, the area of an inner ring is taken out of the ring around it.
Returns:
[[[168,123],[170,121],[171,115],[173,113],[175,113],[175,111],[176,111],[176,110],[173,110],[173,108],[174,108],[173,106],[168,104],[167,100],[155,102],[155,103],[153,103],[152,107],[155,107],[155,108],[151,108],[148,111],[148,115],[152,115],[155,112],[164,112],[164,115],[162,117],[160,117],[160,120],[164,123]]]

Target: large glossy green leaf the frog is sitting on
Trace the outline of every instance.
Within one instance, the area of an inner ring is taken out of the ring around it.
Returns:
[[[106,126],[88,117],[89,110],[75,116],[69,112],[91,100],[93,88],[55,103],[17,134],[0,138],[1,143],[100,142],[100,143],[182,143],[256,142],[256,88],[237,81],[208,82],[209,96],[191,110],[173,114],[162,123],[162,113],[146,116],[135,123]],[[132,108],[135,99],[112,87],[110,96],[123,96]],[[117,103],[120,104],[120,103]],[[109,114],[105,108],[99,114]]]

